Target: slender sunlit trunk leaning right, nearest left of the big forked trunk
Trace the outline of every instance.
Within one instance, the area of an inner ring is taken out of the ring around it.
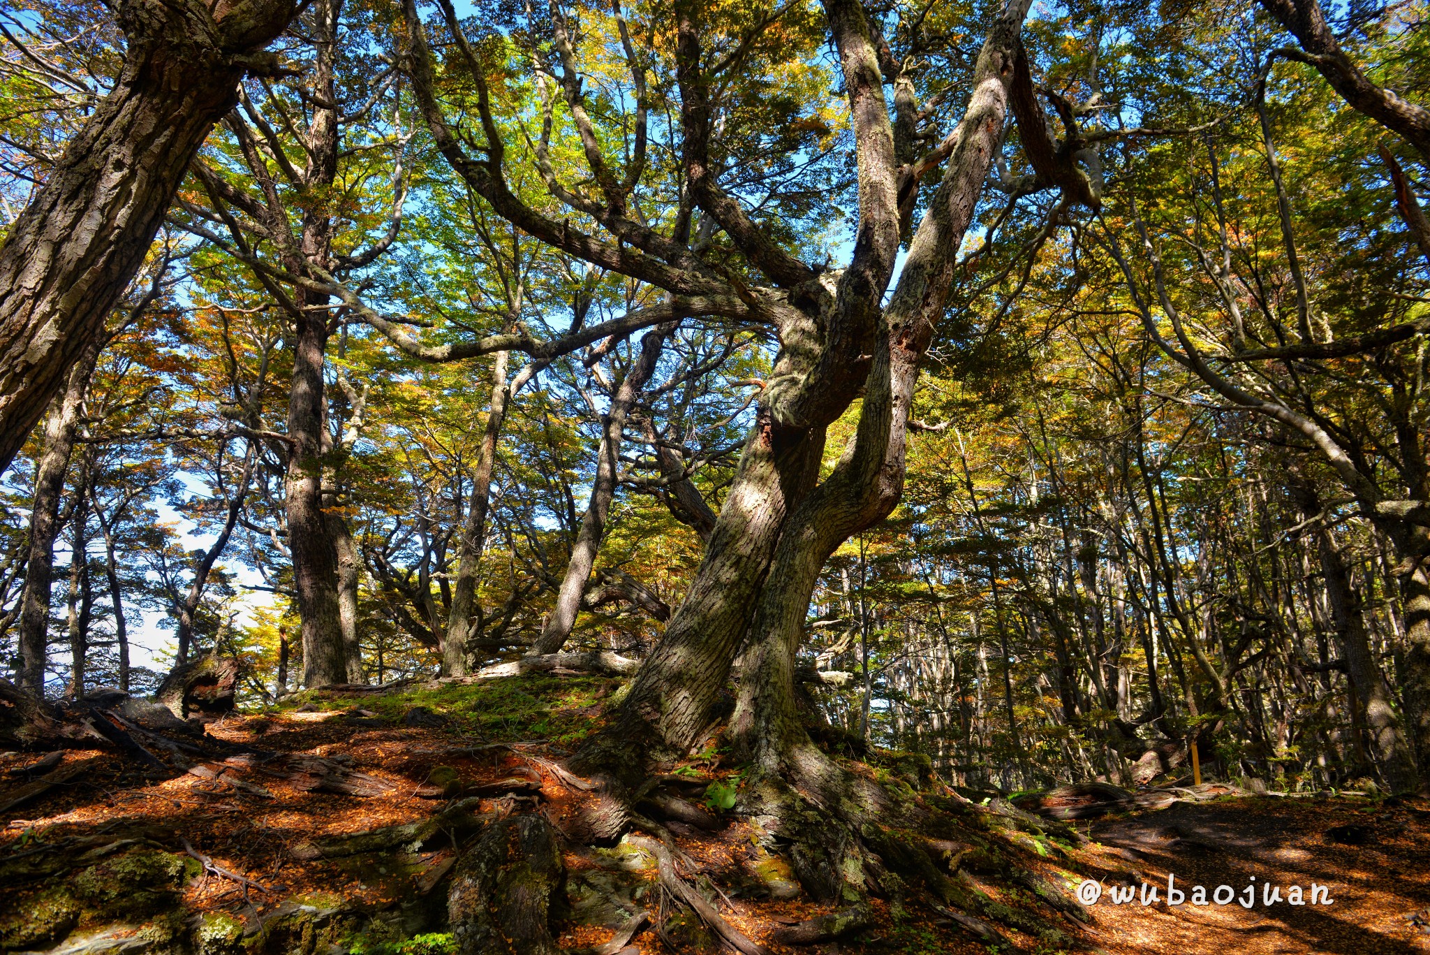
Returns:
[[[601,538],[606,530],[606,515],[616,494],[616,480],[621,470],[621,437],[625,431],[625,422],[635,402],[641,398],[641,391],[655,374],[661,346],[674,331],[675,324],[671,322],[659,325],[641,338],[641,354],[631,364],[615,394],[611,395],[611,409],[602,420],[601,447],[596,450],[596,477],[591,483],[591,503],[581,518],[576,544],[571,548],[571,563],[566,564],[566,576],[556,593],[556,606],[552,609],[551,617],[546,619],[546,627],[541,637],[532,644],[532,656],[545,656],[561,650],[571,637],[571,629],[576,626],[581,594],[591,578],[591,568],[595,567],[596,551],[601,550]]]

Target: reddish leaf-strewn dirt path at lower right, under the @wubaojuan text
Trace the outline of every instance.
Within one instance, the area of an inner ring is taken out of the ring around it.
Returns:
[[[1104,891],[1094,939],[1111,954],[1430,952],[1430,810],[1227,799],[1103,820],[1090,835],[1161,888],[1161,901],[1147,906],[1140,896],[1115,905]],[[1188,903],[1167,905],[1168,873]],[[1283,902],[1264,903],[1266,882]],[[1333,903],[1286,903],[1290,886],[1308,892],[1313,882],[1330,886]],[[1256,902],[1194,906],[1194,885],[1208,896],[1227,885],[1238,898],[1256,885]]]

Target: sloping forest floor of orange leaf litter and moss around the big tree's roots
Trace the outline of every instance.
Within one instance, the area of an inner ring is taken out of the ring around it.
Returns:
[[[113,750],[50,756],[46,773],[77,772],[0,818],[0,951],[446,955],[443,876],[453,846],[506,812],[539,812],[558,829],[571,822],[589,793],[561,759],[618,686],[528,674],[383,694],[309,693],[280,710],[210,723],[206,759],[166,755],[160,767]],[[40,756],[0,755],[0,806]],[[704,756],[676,773],[716,780],[735,770],[716,752]],[[714,829],[666,825],[688,856],[688,878],[768,951],[990,951],[915,899],[875,899],[874,924],[835,942],[781,945],[781,929],[831,909],[799,893],[751,820],[718,803],[706,802]],[[402,825],[409,829],[395,828]],[[1024,838],[1037,852],[1020,865],[1070,888],[1088,875],[1108,889],[1140,876],[1163,893],[1171,872],[1188,901],[1197,883],[1240,893],[1254,876],[1286,895],[1316,882],[1330,886],[1334,903],[1267,908],[1258,888],[1251,909],[1115,905],[1108,891],[1091,925],[1057,916],[1071,945],[1007,931],[1022,951],[1430,952],[1430,803],[1218,799],[1077,828],[1088,845]],[[658,888],[655,859],[638,842],[572,845],[563,861],[562,949],[596,951],[632,915],[649,912],[662,931],[642,929],[623,955],[721,951]],[[994,878],[971,879],[985,898],[1038,905]]]

